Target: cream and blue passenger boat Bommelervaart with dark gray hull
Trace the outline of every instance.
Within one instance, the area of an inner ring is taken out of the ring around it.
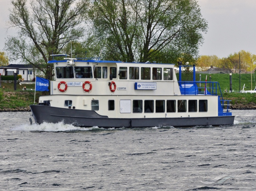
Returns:
[[[58,56],[58,55],[53,55]],[[54,57],[55,58],[55,57]],[[81,127],[204,126],[234,123],[218,82],[179,81],[174,64],[52,60],[50,95],[30,105],[36,123]],[[220,95],[217,95],[219,92]]]

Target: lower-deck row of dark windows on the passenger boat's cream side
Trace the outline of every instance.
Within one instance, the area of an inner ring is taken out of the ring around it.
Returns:
[[[72,100],[65,100],[65,106],[72,106]],[[164,113],[166,112],[176,112],[176,108],[178,112],[207,112],[208,104],[207,100],[199,100],[197,104],[197,100],[144,100],[144,113],[153,113],[155,106],[156,113]],[[92,110],[99,110],[99,100],[91,101]],[[188,110],[187,110],[188,108]],[[115,101],[108,100],[108,110],[115,110]],[[121,111],[121,110],[120,110]],[[143,100],[133,100],[132,102],[132,112],[133,113],[142,113],[143,112]]]

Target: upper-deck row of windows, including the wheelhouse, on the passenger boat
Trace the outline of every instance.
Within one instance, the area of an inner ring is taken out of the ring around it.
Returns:
[[[96,66],[92,67],[56,67],[57,78],[96,78],[106,79],[108,78],[108,68]],[[126,80],[129,74],[130,80],[139,80],[139,72],[141,80],[162,80],[162,68],[151,68],[150,67],[129,67],[129,73],[127,67],[119,67],[119,79]],[[152,78],[151,78],[152,73]],[[117,78],[117,68],[110,67],[110,74],[112,78]],[[173,80],[173,68],[163,69],[163,79]]]

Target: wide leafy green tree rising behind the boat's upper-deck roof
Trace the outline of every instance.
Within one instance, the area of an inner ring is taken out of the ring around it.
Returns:
[[[208,27],[196,0],[94,0],[90,18],[104,53],[129,62],[196,57]]]

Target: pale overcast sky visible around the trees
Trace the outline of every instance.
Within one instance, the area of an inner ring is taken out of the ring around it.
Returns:
[[[200,55],[219,58],[245,50],[256,54],[256,0],[198,0],[203,18],[208,21],[208,32],[203,34]],[[10,0],[0,0],[0,51],[7,35]]]

